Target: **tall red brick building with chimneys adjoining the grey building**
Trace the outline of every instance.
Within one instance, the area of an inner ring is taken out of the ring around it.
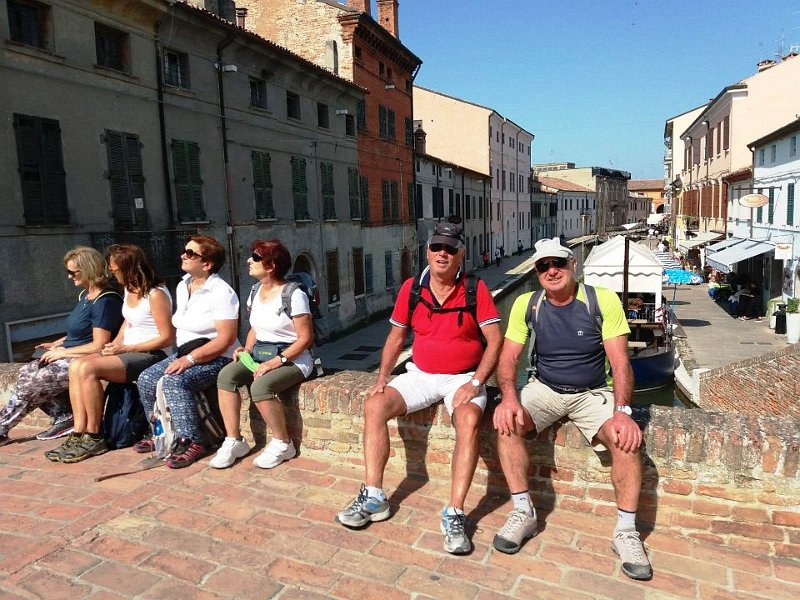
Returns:
[[[422,61],[399,39],[398,2],[377,0],[377,20],[369,0],[240,0],[237,6],[247,9],[248,29],[367,91],[355,114],[363,248],[341,251],[363,260],[365,273],[382,257],[383,285],[357,298],[356,310],[385,309],[414,271],[416,246],[412,86]]]

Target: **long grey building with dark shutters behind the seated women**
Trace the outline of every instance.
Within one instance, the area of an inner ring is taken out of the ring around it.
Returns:
[[[63,331],[69,248],[136,243],[174,284],[195,232],[225,244],[240,297],[252,242],[279,238],[331,327],[358,320],[345,254],[363,246],[357,136],[336,109],[354,115],[363,89],[187,4],[0,5],[6,354]]]

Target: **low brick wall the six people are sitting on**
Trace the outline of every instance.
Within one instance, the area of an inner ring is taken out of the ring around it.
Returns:
[[[0,401],[19,365],[0,365]],[[344,371],[311,381],[285,398],[292,436],[308,456],[363,464],[363,403],[374,375]],[[39,411],[36,411],[39,413]],[[39,413],[41,414],[41,413]],[[654,406],[636,418],[645,431],[639,521],[758,554],[800,559],[800,420]],[[264,424],[245,402],[243,432],[264,442]],[[26,425],[43,426],[31,415]],[[449,481],[453,429],[441,406],[390,424],[388,469]],[[606,457],[571,423],[528,442],[536,504],[612,515]],[[484,417],[474,489],[506,494],[491,412]]]

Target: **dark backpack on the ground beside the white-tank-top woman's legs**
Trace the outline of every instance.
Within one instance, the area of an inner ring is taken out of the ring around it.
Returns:
[[[111,449],[133,446],[150,431],[150,423],[133,383],[109,383],[103,411],[103,437]]]

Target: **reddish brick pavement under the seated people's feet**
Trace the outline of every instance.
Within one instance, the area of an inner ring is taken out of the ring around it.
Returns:
[[[543,531],[506,556],[491,547],[508,510],[496,496],[468,498],[476,548],[453,557],[438,531],[448,490],[398,473],[386,480],[394,517],[346,530],[333,517],[358,489],[357,464],[301,456],[216,471],[205,459],[96,483],[140,457],[52,464],[42,451],[55,445],[0,448],[2,598],[800,597],[800,561],[661,529],[646,538],[655,577],[633,582],[609,550],[613,521],[566,509],[540,513]]]

